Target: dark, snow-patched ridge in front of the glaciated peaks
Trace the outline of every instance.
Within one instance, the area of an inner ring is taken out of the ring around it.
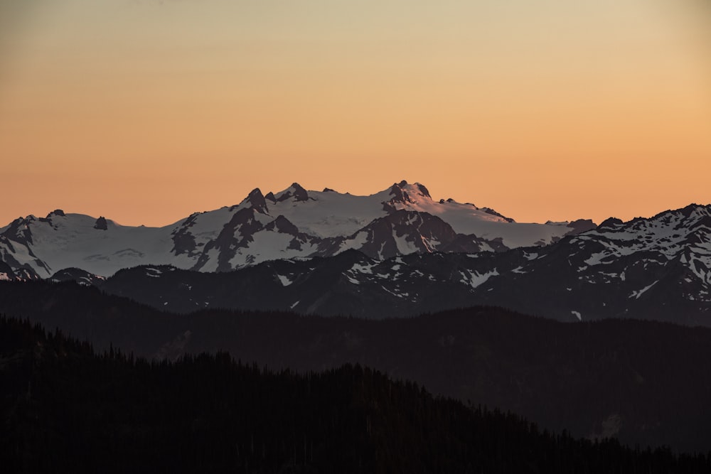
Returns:
[[[348,250],[219,274],[140,266],[109,279],[75,269],[71,279],[183,313],[235,308],[387,318],[486,304],[560,321],[618,317],[711,326],[710,235],[711,206],[690,205],[650,219],[607,220],[545,247],[506,252],[379,260]]]

